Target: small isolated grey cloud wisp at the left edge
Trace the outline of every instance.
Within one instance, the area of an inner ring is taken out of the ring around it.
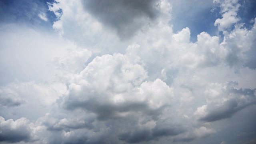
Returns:
[[[14,96],[14,94],[8,93],[8,94],[2,94],[0,95],[0,106],[20,106],[21,104],[24,104],[25,101],[21,98],[18,98]]]

